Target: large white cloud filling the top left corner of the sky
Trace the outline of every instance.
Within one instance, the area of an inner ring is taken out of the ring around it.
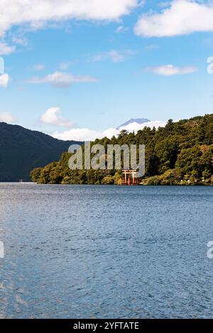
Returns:
[[[47,22],[68,19],[112,21],[129,14],[138,0],[1,0],[0,35],[12,26],[29,23],[41,28]]]

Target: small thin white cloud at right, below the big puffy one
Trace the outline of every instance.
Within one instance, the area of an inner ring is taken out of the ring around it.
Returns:
[[[165,64],[159,67],[147,67],[144,69],[145,72],[151,72],[153,74],[163,75],[165,77],[170,77],[172,75],[180,74],[191,74],[197,71],[197,67],[175,67],[173,64]]]

